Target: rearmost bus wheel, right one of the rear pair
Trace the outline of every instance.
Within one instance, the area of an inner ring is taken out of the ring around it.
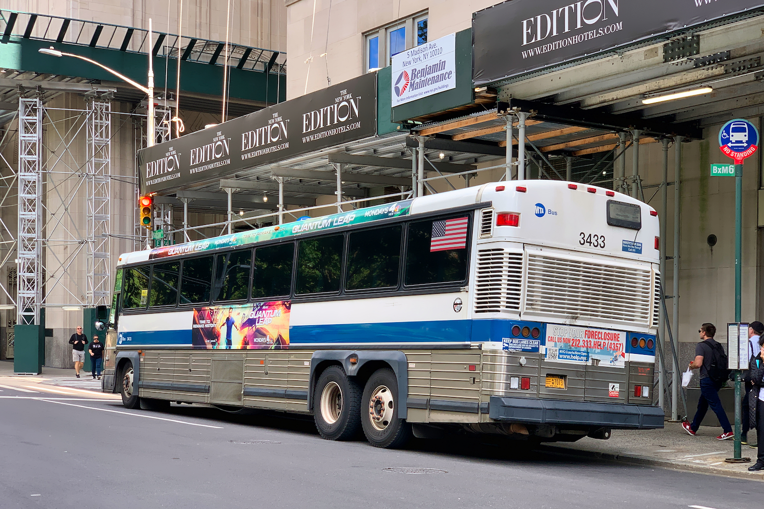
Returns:
[[[411,424],[398,417],[398,380],[392,369],[377,369],[366,382],[361,424],[375,447],[397,449],[411,438]]]

